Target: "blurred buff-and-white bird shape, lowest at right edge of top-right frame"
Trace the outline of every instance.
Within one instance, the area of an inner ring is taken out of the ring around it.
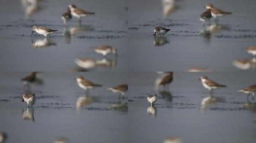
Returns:
[[[233,60],[232,64],[241,70],[250,70],[256,69],[256,58],[253,57],[252,59],[240,59],[240,60]]]

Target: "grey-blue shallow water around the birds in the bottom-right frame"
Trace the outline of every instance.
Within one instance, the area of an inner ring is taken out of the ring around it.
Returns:
[[[210,96],[198,78],[208,76],[227,88]],[[129,133],[132,143],[240,143],[255,141],[256,104],[237,90],[255,84],[255,73],[174,73],[169,90],[155,88],[157,73],[129,77]],[[235,77],[235,78],[234,78]],[[157,94],[151,107],[147,96]],[[172,143],[171,141],[169,141]],[[165,143],[165,142],[164,142]]]

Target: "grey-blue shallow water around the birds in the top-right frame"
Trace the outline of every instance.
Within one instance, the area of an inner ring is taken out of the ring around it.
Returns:
[[[204,5],[232,12],[211,26],[199,21]],[[162,2],[131,0],[129,2],[129,71],[185,71],[205,67],[211,71],[243,71],[233,60],[252,59],[243,50],[255,45],[256,20],[252,13],[256,1],[247,0],[179,0],[173,12],[163,16]],[[138,14],[139,13],[139,14]],[[154,39],[153,29],[171,29],[164,38]],[[245,68],[255,70],[255,67]]]

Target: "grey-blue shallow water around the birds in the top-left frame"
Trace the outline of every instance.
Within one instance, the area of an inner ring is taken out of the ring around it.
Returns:
[[[31,0],[34,1],[34,0]],[[127,10],[124,0],[95,0],[72,3],[95,15],[73,17],[65,27],[61,15],[68,0],[42,0],[30,4],[27,0],[3,1],[0,9],[1,71],[125,71],[127,69]],[[115,5],[113,5],[115,3]],[[45,39],[31,26],[58,30]],[[118,56],[95,53],[91,47],[111,45]],[[76,58],[90,58],[95,64],[82,68]]]

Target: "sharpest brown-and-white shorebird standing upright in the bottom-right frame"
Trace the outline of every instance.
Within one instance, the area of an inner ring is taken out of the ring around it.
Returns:
[[[210,90],[210,94],[213,94],[213,89],[219,89],[226,87],[226,85],[220,85],[219,83],[214,82],[213,80],[208,79],[207,76],[201,76],[200,79],[202,81],[202,85]]]

